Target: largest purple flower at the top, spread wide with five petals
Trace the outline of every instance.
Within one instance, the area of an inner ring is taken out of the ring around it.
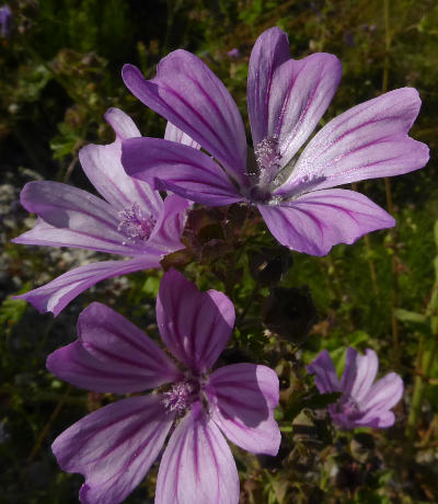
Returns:
[[[420,105],[410,88],[334,118],[299,154],[335,93],[341,62],[323,53],[290,59],[278,27],[264,32],[251,54],[249,156],[234,101],[196,56],[171,53],[150,81],[131,65],[123,77],[139,100],[211,154],[162,139],[129,139],[122,156],[127,173],[205,205],[254,205],[274,237],[299,252],[324,255],[336,243],[394,226],[364,195],[333,187],[406,173],[428,160],[427,146],[407,136]]]

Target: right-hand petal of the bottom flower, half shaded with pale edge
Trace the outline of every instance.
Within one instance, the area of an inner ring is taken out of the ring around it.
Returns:
[[[224,366],[211,374],[206,391],[211,420],[231,442],[253,454],[277,455],[281,434],[274,420],[275,371],[255,364]]]

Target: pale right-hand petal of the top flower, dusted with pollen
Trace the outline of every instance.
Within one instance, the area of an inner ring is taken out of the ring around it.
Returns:
[[[315,187],[325,188],[423,168],[429,149],[407,136],[420,103],[415,89],[402,88],[344,112],[312,138],[277,194],[303,176],[320,177]]]

